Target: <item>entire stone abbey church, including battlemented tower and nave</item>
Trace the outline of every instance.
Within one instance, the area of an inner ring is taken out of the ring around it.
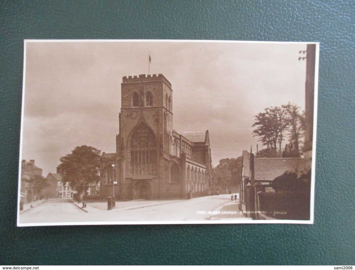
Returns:
[[[100,190],[115,200],[190,199],[209,194],[207,131],[173,129],[173,90],[163,74],[123,77],[116,153],[103,152]]]

